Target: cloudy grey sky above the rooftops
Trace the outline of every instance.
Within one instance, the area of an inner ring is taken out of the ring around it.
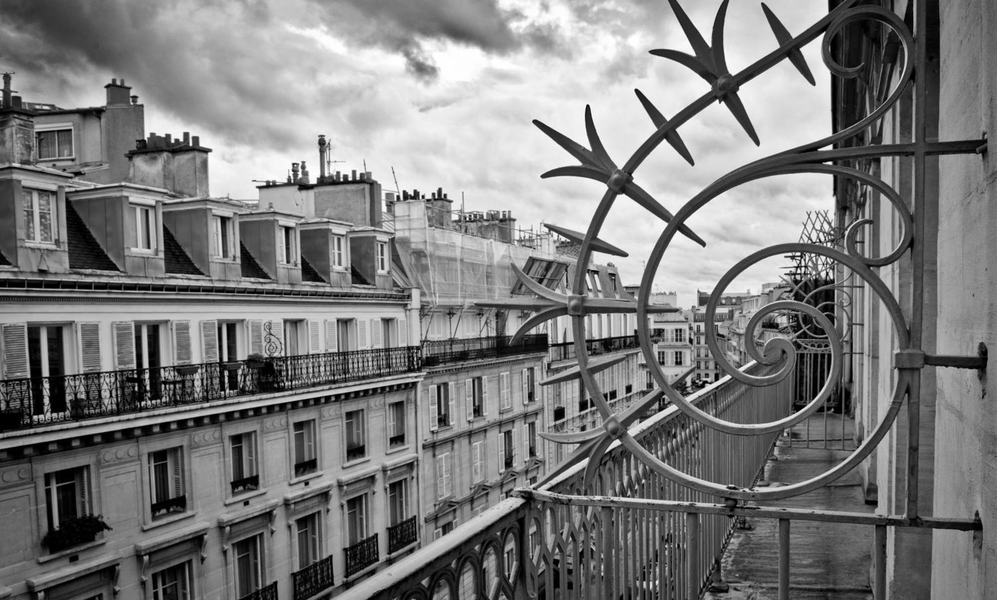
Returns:
[[[719,0],[686,0],[708,40]],[[826,0],[770,0],[791,33],[819,19]],[[318,134],[333,168],[373,171],[394,189],[443,187],[468,210],[510,209],[519,225],[584,230],[605,187],[539,174],[576,161],[530,122],[587,146],[590,105],[618,164],[652,133],[634,95],[672,116],[708,90],[655,48],[689,52],[666,0],[6,0],[0,68],[26,101],[104,104],[125,78],[146,106],[146,130],[199,135],[211,154],[211,192],[255,198],[252,179],[283,179],[292,161],[318,174]],[[758,2],[733,0],[732,72],[777,44]],[[715,105],[680,129],[690,166],[662,145],[636,180],[673,212],[699,189],[755,158],[830,131],[830,76],[820,40],[805,51],[818,86],[783,63],[740,96],[762,145]],[[706,241],[676,241],[656,290],[682,305],[760,247],[796,241],[807,210],[831,208],[831,180],[781,177],[745,185],[690,219]],[[609,258],[638,283],[664,223],[621,197],[603,239],[630,252]],[[598,257],[597,259],[605,259]],[[785,259],[749,271],[732,289],[757,291]]]

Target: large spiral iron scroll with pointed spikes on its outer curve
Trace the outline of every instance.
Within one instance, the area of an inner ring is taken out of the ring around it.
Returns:
[[[985,141],[929,142],[924,135],[923,126],[915,125],[914,141],[909,144],[861,145],[860,134],[867,130],[874,130],[883,115],[893,108],[901,97],[908,94],[910,88],[914,88],[916,95],[923,92],[923,86],[926,85],[922,82],[915,82],[914,78],[915,71],[925,68],[926,59],[924,58],[924,49],[916,47],[914,36],[907,25],[888,10],[878,6],[858,5],[857,0],[843,0],[831,13],[809,29],[797,36],[792,36],[776,15],[763,4],[762,9],[775,34],[779,47],[743,71],[732,74],[727,67],[724,48],[724,25],[728,0],[724,0],[721,3],[717,12],[710,43],[707,43],[699,31],[697,31],[692,21],[676,0],[669,0],[669,4],[692,47],[693,54],[675,50],[652,50],[651,54],[677,62],[690,69],[709,84],[709,91],[679,111],[672,119],[666,119],[644,94],[637,91],[637,98],[650,117],[655,131],[637,150],[634,150],[622,166],[617,165],[600,142],[591,110],[588,107],[586,107],[584,114],[588,148],[573,142],[548,126],[534,121],[533,123],[541,132],[546,134],[558,146],[567,150],[569,154],[579,161],[579,164],[576,165],[561,166],[548,170],[541,177],[586,177],[604,183],[606,191],[596,206],[592,220],[584,233],[563,227],[549,227],[558,234],[580,243],[580,251],[576,263],[577,268],[570,294],[565,295],[552,292],[533,282],[522,271],[515,269],[519,280],[530,291],[536,294],[537,298],[527,300],[511,299],[479,304],[505,309],[535,311],[532,317],[518,330],[513,341],[548,319],[561,315],[571,317],[578,365],[575,369],[559,374],[554,378],[541,382],[541,384],[563,381],[565,378],[571,376],[580,377],[588,395],[593,399],[598,408],[603,423],[601,427],[587,432],[542,434],[544,438],[555,443],[579,445],[569,459],[560,465],[558,472],[585,457],[590,458],[585,473],[585,485],[587,489],[591,489],[592,477],[598,468],[603,452],[610,444],[619,440],[627,450],[639,457],[649,468],[690,488],[728,498],[731,501],[777,499],[797,495],[831,482],[865,458],[879,444],[892,426],[904,399],[907,399],[908,405],[914,407],[914,409],[911,409],[913,411],[912,414],[916,413],[920,381],[919,369],[924,364],[922,360],[920,366],[917,365],[917,357],[924,358],[924,353],[920,349],[920,309],[913,311],[908,322],[901,313],[896,298],[894,298],[890,289],[880,279],[873,268],[895,263],[908,250],[911,251],[911,260],[914,261],[915,270],[920,268],[922,261],[921,250],[915,246],[913,240],[914,236],[918,234],[918,227],[922,226],[922,224],[918,224],[918,219],[923,218],[923,216],[917,214],[916,209],[920,207],[920,202],[923,198],[923,181],[920,183],[919,190],[918,185],[916,183],[914,185],[915,189],[910,205],[915,207],[915,212],[912,212],[908,209],[908,202],[901,197],[899,192],[883,179],[864,170],[862,165],[867,164],[873,158],[905,155],[912,156],[915,164],[919,162],[920,166],[923,167],[924,156],[926,155],[971,153],[977,151],[977,149],[985,144]],[[920,18],[920,21],[923,21],[923,18]],[[801,48],[818,37],[823,36],[823,59],[832,75],[838,78],[857,78],[862,75],[862,65],[843,66],[835,62],[832,56],[832,41],[841,33],[845,26],[854,22],[872,22],[878,27],[885,28],[899,46],[900,52],[898,56],[901,57],[899,59],[900,63],[894,66],[897,69],[895,71],[896,75],[893,76],[895,85],[892,86],[891,90],[884,89],[881,94],[876,96],[875,100],[878,101],[878,105],[870,109],[864,118],[822,140],[792,150],[772,154],[728,172],[697,195],[690,198],[674,214],[659,203],[648,191],[638,185],[634,173],[641,163],[662,142],[667,143],[688,162],[693,163],[692,153],[680,138],[678,130],[682,125],[689,122],[715,101],[723,104],[733,114],[748,137],[758,145],[760,143],[759,136],[755,132],[751,120],[738,97],[738,91],[742,86],[759,78],[784,60],[789,60],[801,75],[813,85],[815,80],[801,53]],[[923,24],[918,24],[917,27],[918,36],[923,37],[924,31],[920,29],[923,27]],[[920,112],[919,116],[915,115],[915,120],[917,119],[923,122],[925,119],[923,111]],[[853,142],[854,144],[851,145],[849,142]],[[777,312],[794,311],[798,314],[806,315],[809,323],[811,323],[810,327],[812,329],[816,328],[810,332],[813,334],[811,337],[820,335],[829,342],[831,347],[831,375],[814,398],[810,399],[803,409],[794,414],[769,423],[740,424],[727,422],[699,410],[686,401],[682,395],[678,394],[668,385],[663,373],[658,369],[651,369],[656,388],[629,409],[618,414],[613,414],[609,410],[605,396],[599,390],[598,384],[595,378],[593,378],[594,373],[604,369],[609,363],[606,363],[605,359],[601,358],[592,359],[587,354],[583,317],[593,313],[636,313],[641,350],[650,367],[655,365],[656,361],[647,325],[647,316],[649,313],[655,311],[655,307],[648,304],[649,295],[647,294],[641,295],[635,302],[587,296],[585,294],[586,267],[591,260],[593,252],[626,255],[626,252],[623,250],[599,238],[600,230],[606,216],[620,195],[634,200],[666,223],[657,243],[647,255],[646,268],[641,280],[641,289],[648,290],[653,286],[654,275],[661,264],[662,257],[677,234],[682,234],[699,244],[706,244],[687,225],[692,215],[706,206],[719,194],[729,189],[764,177],[794,173],[827,173],[879,192],[892,205],[894,212],[898,215],[902,229],[899,242],[884,256],[872,257],[863,254],[859,250],[856,240],[860,230],[871,223],[871,221],[861,219],[851,223],[847,227],[843,232],[843,240],[838,244],[838,247],[832,247],[825,243],[815,243],[813,241],[800,241],[773,245],[745,257],[720,279],[707,305],[706,339],[713,358],[732,378],[748,386],[770,386],[788,377],[792,372],[797,353],[800,349],[800,343],[786,338],[771,339],[765,344],[761,352],[755,347],[754,343],[749,343],[746,348],[747,352],[759,363],[769,366],[770,369],[766,371],[769,374],[757,376],[739,371],[729,364],[725,360],[723,353],[720,352],[714,333],[715,312],[720,296],[727,285],[744,272],[745,269],[757,262],[768,257],[780,255],[816,257],[819,264],[833,262],[847,269],[856,281],[861,280],[861,282],[867,285],[871,293],[883,303],[885,307],[884,314],[892,322],[898,347],[900,348],[898,355],[901,357],[901,360],[897,361],[897,377],[895,378],[896,384],[892,400],[881,422],[873,431],[867,434],[864,442],[840,463],[816,477],[786,486],[762,489],[726,485],[722,482],[697,478],[678,470],[659,459],[658,456],[645,450],[627,433],[628,427],[662,397],[667,398],[679,410],[707,427],[734,435],[771,434],[802,422],[823,406],[825,399],[831,393],[832,385],[842,367],[842,336],[839,333],[838,327],[835,327],[831,318],[826,314],[828,307],[814,306],[807,301],[807,298],[796,296],[792,299],[780,300],[760,309],[750,320],[746,330],[745,339],[754,340],[758,332],[757,328],[766,316]],[[922,221],[920,222],[922,223]],[[918,282],[915,278],[913,284],[915,297],[919,292],[918,286],[920,285],[922,285],[922,281]],[[817,329],[820,331],[817,331]],[[916,428],[912,426],[911,429]],[[914,471],[916,471],[916,468]],[[914,483],[914,488],[916,488],[916,481]],[[911,503],[908,497],[907,512],[908,516],[916,515],[916,499]]]

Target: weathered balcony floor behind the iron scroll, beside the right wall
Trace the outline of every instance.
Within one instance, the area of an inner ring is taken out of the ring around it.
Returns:
[[[807,424],[794,428],[793,446],[784,438],[776,448],[778,460],[766,466],[766,480],[777,485],[810,478],[830,468],[854,448],[852,424],[844,420],[845,448],[825,450],[824,415],[809,421],[812,447],[805,448]],[[828,415],[828,430],[840,439],[841,418]],[[829,436],[830,438],[831,436]],[[840,448],[839,441],[829,446]],[[768,502],[774,506],[873,512],[863,501],[857,470],[810,493]],[[779,522],[749,519],[753,529],[738,529],[723,558],[723,578],[729,593],[707,593],[710,600],[767,600],[778,597]],[[869,568],[872,527],[817,521],[793,521],[790,534],[790,597],[794,600],[866,600],[872,598]]]

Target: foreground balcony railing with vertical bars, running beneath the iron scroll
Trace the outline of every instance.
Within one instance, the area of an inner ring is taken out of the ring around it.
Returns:
[[[747,370],[755,375],[773,371],[757,365]],[[721,419],[739,423],[771,421],[790,411],[793,380],[789,377],[760,389],[727,377],[689,400]],[[631,428],[630,435],[668,463],[684,465],[690,474],[752,485],[778,434],[722,434],[669,407]],[[619,493],[625,489],[627,496],[641,501],[706,500],[705,494],[640,465],[629,450],[619,442],[613,443],[599,461],[593,492]],[[693,515],[697,521],[691,525],[677,512],[652,514],[611,501],[593,509],[589,505],[561,503],[561,497],[551,496],[580,490],[586,466],[587,460],[583,460],[535,491],[518,490],[520,497],[503,500],[397,563],[390,574],[376,574],[344,592],[342,598],[410,600],[436,594],[461,600],[464,589],[503,589],[509,591],[509,597],[535,593],[537,597],[565,599],[645,595],[687,598],[691,597],[690,589],[698,594],[714,559],[723,551],[734,519],[726,514]],[[502,554],[498,549],[503,549]],[[474,557],[469,558],[472,554]],[[510,563],[522,568],[508,571],[503,565]],[[494,564],[497,568],[477,569],[477,564]],[[692,567],[695,569],[690,571]],[[461,585],[451,586],[450,578],[438,576],[445,572],[455,575]],[[482,581],[483,577],[487,580]],[[426,589],[426,581],[434,582],[431,585],[436,587]]]

